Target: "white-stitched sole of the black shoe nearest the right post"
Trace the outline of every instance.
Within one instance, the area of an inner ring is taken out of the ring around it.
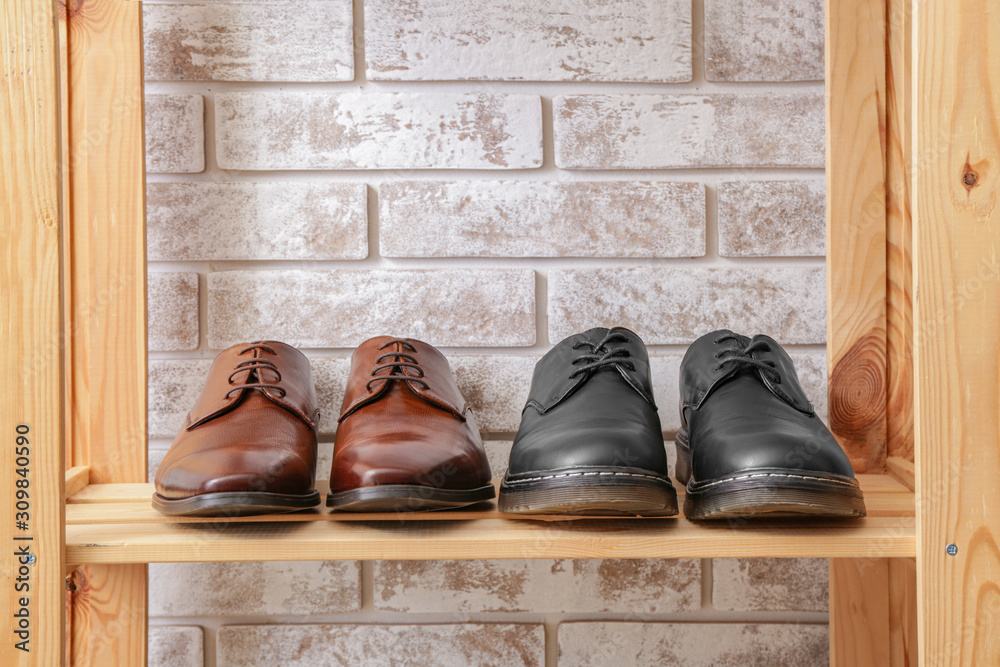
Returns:
[[[684,498],[684,516],[692,521],[865,514],[864,496],[856,479],[788,470],[747,471],[689,483]]]

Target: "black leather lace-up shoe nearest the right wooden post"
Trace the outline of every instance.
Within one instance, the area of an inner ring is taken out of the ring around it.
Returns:
[[[714,331],[688,348],[676,444],[688,519],[865,515],[847,455],[767,336]]]

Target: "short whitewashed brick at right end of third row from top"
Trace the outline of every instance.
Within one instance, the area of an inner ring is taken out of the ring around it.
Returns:
[[[825,251],[823,180],[719,184],[719,254],[723,257],[822,256]]]

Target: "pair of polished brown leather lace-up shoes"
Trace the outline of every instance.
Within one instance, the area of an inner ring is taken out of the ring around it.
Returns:
[[[164,514],[244,516],[320,504],[319,410],[309,361],[277,341],[216,357],[187,422],[156,471]],[[337,510],[445,509],[495,495],[472,410],[448,361],[426,343],[362,343],[338,420],[330,494]]]

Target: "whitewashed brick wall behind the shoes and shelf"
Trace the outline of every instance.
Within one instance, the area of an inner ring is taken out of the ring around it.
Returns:
[[[443,347],[497,474],[534,363],[601,324],[649,344],[668,439],[720,326],[787,343],[825,415],[821,8],[147,3],[150,472],[257,337],[310,357],[320,479],[382,333]],[[825,565],[157,565],[150,664],[825,664]]]

